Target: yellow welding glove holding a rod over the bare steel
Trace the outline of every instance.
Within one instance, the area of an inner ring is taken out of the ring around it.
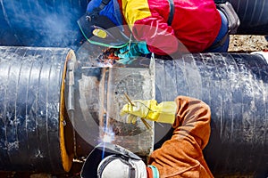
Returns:
[[[128,122],[135,123],[137,117],[146,118],[156,122],[173,124],[177,104],[175,101],[163,101],[157,104],[155,100],[148,101],[132,101],[134,106],[130,103],[125,104],[121,109],[120,115],[128,115]]]

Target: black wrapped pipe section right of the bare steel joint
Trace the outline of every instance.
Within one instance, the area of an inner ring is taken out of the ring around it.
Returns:
[[[262,55],[200,53],[156,60],[155,91],[157,101],[188,95],[211,107],[205,158],[214,174],[267,176],[268,63]],[[163,136],[167,131],[157,133],[160,127],[155,125],[155,134]]]

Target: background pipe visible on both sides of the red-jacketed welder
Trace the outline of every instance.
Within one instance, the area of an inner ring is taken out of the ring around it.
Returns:
[[[87,3],[87,0],[0,1],[0,45],[74,49],[84,40],[76,21],[86,11]],[[241,21],[238,34],[268,35],[266,0],[230,0],[230,3]]]

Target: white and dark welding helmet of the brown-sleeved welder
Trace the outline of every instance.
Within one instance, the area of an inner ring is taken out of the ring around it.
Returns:
[[[86,159],[82,178],[146,178],[147,167],[136,154],[119,145],[105,142],[92,150]]]

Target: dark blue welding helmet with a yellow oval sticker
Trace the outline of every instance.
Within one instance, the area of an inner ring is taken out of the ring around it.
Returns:
[[[77,21],[80,30],[91,44],[105,47],[121,48],[130,41],[112,20],[105,15],[86,13]]]

